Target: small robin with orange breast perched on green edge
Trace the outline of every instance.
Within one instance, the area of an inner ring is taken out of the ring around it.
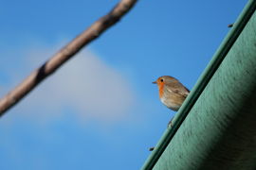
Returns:
[[[160,76],[153,83],[158,87],[161,102],[170,110],[179,110],[190,93],[190,90],[173,76]]]

